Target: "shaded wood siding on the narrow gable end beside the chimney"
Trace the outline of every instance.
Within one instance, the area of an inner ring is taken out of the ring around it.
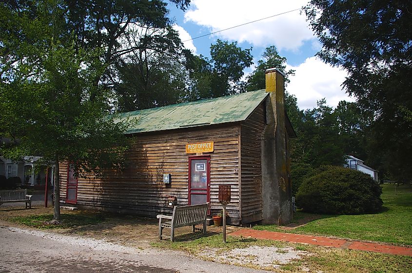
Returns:
[[[241,124],[241,223],[262,219],[261,135],[266,123],[264,103]]]

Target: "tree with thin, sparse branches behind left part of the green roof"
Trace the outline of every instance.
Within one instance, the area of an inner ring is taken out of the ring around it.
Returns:
[[[115,84],[120,111],[148,109],[182,100],[189,77],[183,63],[183,49],[176,31],[147,25],[129,31],[122,43],[133,48],[118,58]]]

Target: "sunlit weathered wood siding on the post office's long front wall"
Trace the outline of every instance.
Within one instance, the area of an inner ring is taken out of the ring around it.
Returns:
[[[239,222],[239,126],[208,126],[155,133],[140,133],[126,152],[127,167],[122,173],[108,172],[103,179],[79,179],[77,205],[154,217],[172,213],[166,206],[169,195],[179,205],[188,204],[187,143],[214,141],[210,155],[211,213],[221,210],[218,185],[232,185],[232,202],[228,205],[231,223]],[[171,184],[163,183],[163,174],[171,174]],[[65,200],[67,165],[60,165],[60,196]]]

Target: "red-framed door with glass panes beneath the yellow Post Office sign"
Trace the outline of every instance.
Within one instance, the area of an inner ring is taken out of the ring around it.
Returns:
[[[189,158],[189,205],[210,202],[210,157]]]

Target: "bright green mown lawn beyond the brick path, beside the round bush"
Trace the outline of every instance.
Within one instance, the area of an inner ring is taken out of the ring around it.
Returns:
[[[322,215],[321,219],[287,231],[276,225],[258,225],[255,229],[412,245],[412,187],[396,187],[395,194],[393,184],[384,184],[382,190],[385,210],[381,213]],[[303,218],[308,215],[310,214],[297,212],[295,217]]]

